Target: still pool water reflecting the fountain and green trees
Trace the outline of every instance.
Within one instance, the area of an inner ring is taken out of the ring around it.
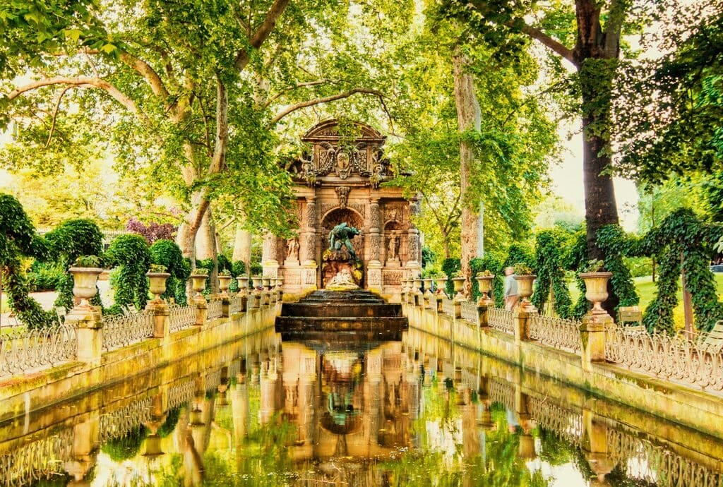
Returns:
[[[723,445],[701,432],[414,331],[346,345],[264,333],[0,434],[0,486],[723,483]]]

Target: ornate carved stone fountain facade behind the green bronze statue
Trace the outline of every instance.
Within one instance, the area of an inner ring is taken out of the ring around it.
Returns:
[[[362,263],[361,287],[398,299],[402,278],[421,267],[419,230],[410,219],[419,211],[419,199],[407,200],[401,189],[381,186],[395,176],[384,154],[385,137],[366,124],[328,120],[301,140],[307,152],[289,169],[297,238],[267,237],[264,274],[283,277],[287,293],[324,288],[333,277],[322,271],[329,232],[346,222],[361,230],[352,240]]]

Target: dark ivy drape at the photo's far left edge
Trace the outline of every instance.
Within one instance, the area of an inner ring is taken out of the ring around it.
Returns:
[[[30,297],[23,265],[26,257],[42,259],[47,255],[43,238],[35,234],[20,202],[9,194],[0,194],[0,272],[10,308],[30,328],[47,327],[56,321],[54,314],[43,311],[38,301]]]

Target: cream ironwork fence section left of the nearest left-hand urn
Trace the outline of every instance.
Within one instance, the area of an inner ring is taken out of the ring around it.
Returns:
[[[0,335],[0,377],[74,360],[77,348],[72,325],[14,329]]]

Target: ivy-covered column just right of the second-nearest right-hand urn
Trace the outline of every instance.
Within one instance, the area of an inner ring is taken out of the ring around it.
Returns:
[[[555,312],[562,318],[570,318],[573,302],[565,281],[562,267],[563,251],[570,239],[570,233],[564,230],[542,230],[535,240],[535,269],[537,283],[532,295],[532,303],[542,310],[549,298],[550,290],[555,301]]]

